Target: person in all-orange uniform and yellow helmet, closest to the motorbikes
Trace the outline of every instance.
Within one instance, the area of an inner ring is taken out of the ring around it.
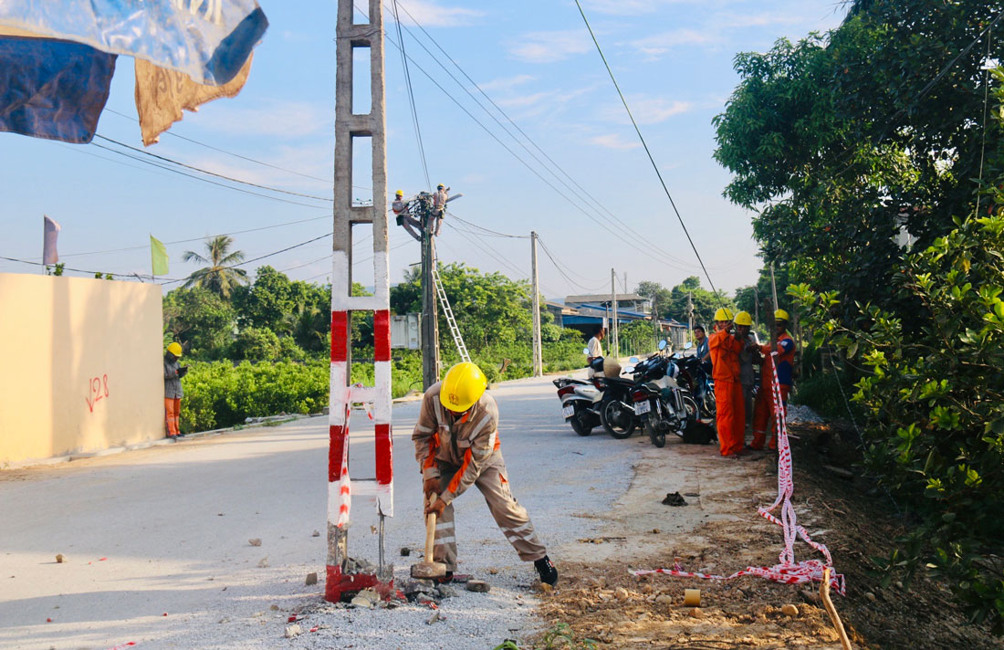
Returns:
[[[715,312],[715,334],[708,343],[711,349],[712,377],[715,380],[715,416],[718,447],[725,457],[743,453],[746,435],[746,412],[743,386],[739,377],[739,353],[745,347],[739,334],[732,333],[732,310]]]

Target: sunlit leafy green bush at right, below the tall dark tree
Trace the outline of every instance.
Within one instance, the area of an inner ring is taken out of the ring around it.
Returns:
[[[896,290],[906,317],[834,293],[789,293],[828,339],[867,367],[853,400],[869,421],[864,461],[921,524],[882,560],[887,581],[927,568],[949,580],[974,622],[1004,633],[1004,195],[997,216],[966,221],[910,255]]]

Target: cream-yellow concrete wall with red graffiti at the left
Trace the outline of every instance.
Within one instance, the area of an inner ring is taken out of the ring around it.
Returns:
[[[164,437],[161,287],[0,273],[0,467]]]

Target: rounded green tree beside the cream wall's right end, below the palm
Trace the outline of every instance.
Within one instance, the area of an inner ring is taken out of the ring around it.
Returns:
[[[180,287],[164,296],[165,335],[196,358],[222,358],[236,323],[230,303],[209,289]]]

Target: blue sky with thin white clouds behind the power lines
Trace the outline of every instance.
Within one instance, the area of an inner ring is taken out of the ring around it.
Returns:
[[[329,198],[335,2],[263,0],[261,5],[271,26],[255,50],[244,90],[234,99],[187,113],[171,133],[296,173],[170,135],[148,151],[253,183]],[[560,272],[540,251],[540,281],[548,298],[608,291],[611,268],[621,282],[628,274],[631,289],[643,279],[672,286],[699,274],[696,258],[574,2],[400,0],[399,6],[591,195],[585,197],[574,186],[566,188],[544,171],[406,33],[405,46],[415,62],[571,199],[562,198],[528,171],[413,66],[432,183],[443,182],[454,193],[464,194],[451,205],[466,221],[517,235],[536,230],[565,268]],[[715,285],[731,292],[752,283],[759,260],[751,215],[722,197],[729,175],[712,159],[711,122],[738,82],[732,69],[737,52],[763,51],[779,37],[798,38],[833,28],[843,17],[842,4],[585,0],[583,6]],[[402,23],[450,65],[404,13]],[[397,41],[393,21],[387,26]],[[390,42],[386,67],[390,191],[400,188],[412,194],[425,189],[425,178],[401,55]],[[456,69],[452,71],[464,80]],[[129,117],[105,111],[98,133],[142,147],[139,125],[133,120],[133,60],[119,57],[107,109]],[[544,160],[532,145],[525,141],[524,145]],[[294,205],[250,196],[154,169],[93,145],[0,134],[0,152],[4,161],[0,255],[40,260],[43,214],[62,225],[62,261],[82,269],[149,273],[149,233],[163,241],[196,239],[168,246],[171,277],[184,277],[195,268],[183,264],[181,254],[190,248],[200,250],[198,239],[206,235],[302,221],[234,235],[237,248],[252,258],[330,232],[330,204],[324,201],[271,195],[306,204]],[[594,209],[596,205],[602,207]],[[621,236],[611,234],[611,228]],[[475,237],[469,230],[448,218],[439,241],[442,261],[463,261],[511,277],[529,276],[528,240]],[[355,231],[364,248],[366,233],[360,227]],[[419,249],[397,227],[391,246],[392,281],[398,281],[404,269],[418,261]],[[141,248],[96,252],[130,247]],[[249,270],[268,263],[288,269],[293,278],[322,282],[330,274],[329,250],[330,240],[322,239],[253,263]],[[363,284],[372,278],[366,256],[356,249],[354,279]],[[0,260],[0,272],[40,270]],[[707,281],[703,284],[707,286]]]

